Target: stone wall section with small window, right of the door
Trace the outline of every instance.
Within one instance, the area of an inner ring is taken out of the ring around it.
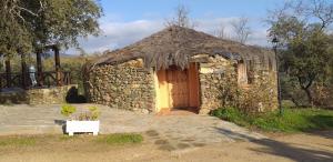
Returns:
[[[201,60],[203,57],[201,55]],[[246,112],[270,111],[278,108],[276,72],[254,60],[249,68],[249,84],[238,83],[236,61],[222,57],[209,57],[200,63],[200,113],[222,107],[236,107]],[[248,64],[249,65],[249,64]]]

